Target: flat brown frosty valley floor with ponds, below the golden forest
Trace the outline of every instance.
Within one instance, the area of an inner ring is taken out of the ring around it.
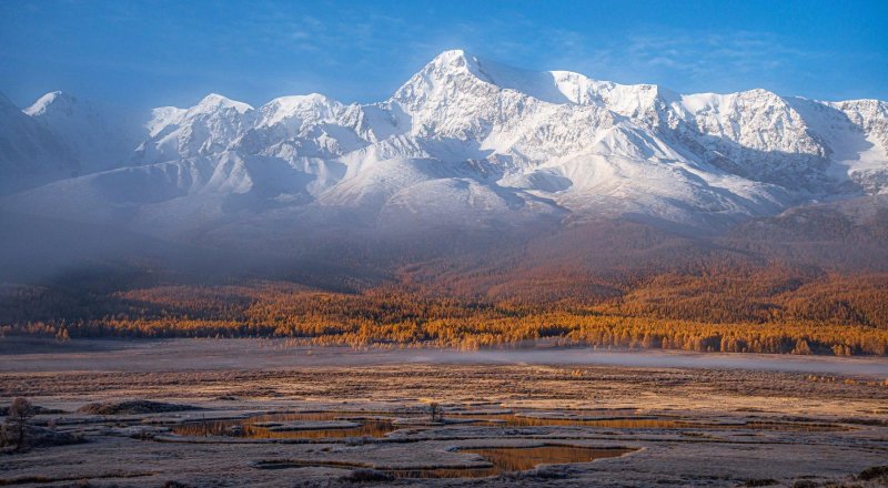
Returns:
[[[396,476],[369,486],[880,486],[855,477],[888,465],[887,380],[886,358],[2,338],[0,403],[63,410],[32,423],[85,441],[0,454],[0,485],[347,486],[363,472]],[[134,398],[201,409],[78,411]],[[432,401],[443,420],[427,418]],[[332,420],[249,419],[297,411]],[[335,434],[372,423],[390,427]],[[398,477],[488,466],[471,449],[541,446],[614,455]]]

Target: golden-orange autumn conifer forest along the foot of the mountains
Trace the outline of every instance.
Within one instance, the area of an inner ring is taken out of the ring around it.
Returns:
[[[2,334],[283,337],[294,345],[462,349],[542,339],[605,349],[888,355],[886,274],[804,276],[778,267],[659,274],[613,287],[616,294],[556,293],[551,301],[444,296],[404,283],[354,293],[284,281],[114,286],[9,287]],[[536,286],[576,289],[555,278]]]

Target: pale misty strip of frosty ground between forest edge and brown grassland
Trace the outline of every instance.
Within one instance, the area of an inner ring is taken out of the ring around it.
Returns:
[[[194,354],[194,353],[198,354]],[[286,339],[78,339],[69,343],[7,337],[0,372],[279,369],[300,366],[373,366],[385,364],[539,364],[605,365],[779,370],[888,378],[888,358],[789,356],[773,354],[699,354],[675,350],[610,350],[554,347],[456,350],[295,346]]]

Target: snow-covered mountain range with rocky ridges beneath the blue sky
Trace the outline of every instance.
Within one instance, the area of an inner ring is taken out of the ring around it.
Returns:
[[[57,171],[4,207],[167,236],[601,217],[713,230],[888,193],[886,102],[683,95],[463,51],[380,103],[309,94],[254,109],[211,94],[155,109],[138,142],[134,124],[71,100],[19,111],[0,99],[4,174],[83,174]]]

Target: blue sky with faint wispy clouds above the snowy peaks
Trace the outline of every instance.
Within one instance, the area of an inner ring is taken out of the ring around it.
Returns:
[[[0,1],[0,91],[137,108],[390,95],[462,48],[680,92],[888,100],[888,1]]]

